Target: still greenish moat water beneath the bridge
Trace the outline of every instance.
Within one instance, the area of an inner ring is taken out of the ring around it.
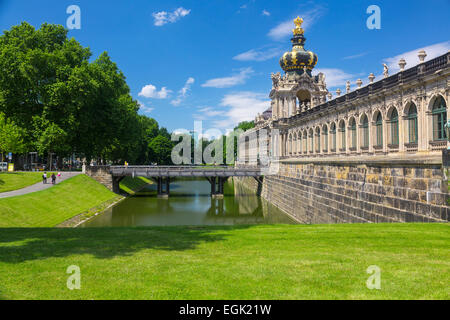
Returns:
[[[159,199],[148,185],[81,227],[294,224],[283,211],[252,194],[240,183],[225,184],[224,198],[210,196],[206,180],[171,182],[170,197]]]

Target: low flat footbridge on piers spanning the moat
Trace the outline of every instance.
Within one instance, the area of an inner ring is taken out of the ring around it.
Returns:
[[[223,186],[229,177],[253,177],[261,182],[258,168],[231,166],[84,166],[83,172],[119,193],[119,183],[125,177],[145,177],[157,184],[159,197],[168,197],[170,182],[180,177],[204,177],[211,184],[211,196],[222,197]]]

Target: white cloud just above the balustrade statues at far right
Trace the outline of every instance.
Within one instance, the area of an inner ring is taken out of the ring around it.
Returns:
[[[404,52],[399,55],[396,55],[395,57],[386,58],[383,60],[383,62],[388,65],[389,73],[393,74],[400,70],[400,67],[398,66],[398,61],[401,58],[406,60],[407,64],[405,69],[414,67],[417,64],[419,64],[419,57],[417,56],[417,53],[420,50],[425,50],[425,52],[427,53],[426,60],[430,60],[448,52],[450,50],[450,41],[440,42],[427,47],[417,48],[408,52]]]

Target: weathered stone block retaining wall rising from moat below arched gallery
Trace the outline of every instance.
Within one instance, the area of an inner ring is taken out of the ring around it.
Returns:
[[[236,179],[257,192],[254,179]],[[264,177],[261,196],[301,223],[445,222],[447,181],[438,159],[291,161]]]

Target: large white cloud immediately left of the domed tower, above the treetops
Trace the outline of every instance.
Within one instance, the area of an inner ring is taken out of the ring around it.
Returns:
[[[220,129],[232,129],[241,121],[254,120],[258,113],[270,107],[266,94],[256,92],[236,92],[223,97],[221,107],[227,107],[222,119],[214,120],[214,126]]]

